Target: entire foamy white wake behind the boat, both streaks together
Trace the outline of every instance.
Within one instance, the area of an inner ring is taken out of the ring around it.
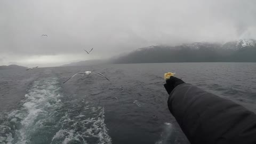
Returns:
[[[111,143],[104,123],[104,108],[78,99],[73,99],[73,103],[62,102],[65,97],[59,92],[57,80],[46,78],[34,82],[21,101],[21,108],[9,113],[0,126],[1,144],[42,143],[42,140],[52,144]]]

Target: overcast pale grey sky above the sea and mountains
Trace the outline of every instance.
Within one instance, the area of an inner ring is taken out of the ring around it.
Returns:
[[[1,0],[0,65],[53,67],[150,45],[256,39],[255,7],[255,0]]]

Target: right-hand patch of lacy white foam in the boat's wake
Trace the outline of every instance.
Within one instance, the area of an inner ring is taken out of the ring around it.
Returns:
[[[55,133],[52,143],[56,141],[62,141],[63,144],[71,141],[86,143],[86,139],[90,138],[97,139],[99,141],[98,143],[111,143],[111,138],[107,132],[108,129],[104,123],[104,109],[101,107],[90,107],[89,111],[91,111],[91,114],[94,114],[93,117],[86,119],[84,119],[84,115],[74,117],[75,119],[69,118],[68,115],[62,117],[63,127],[66,127],[65,125],[70,123],[72,125],[68,129],[60,129]],[[95,115],[95,111],[99,112],[97,113],[98,115]],[[82,131],[77,131],[77,129],[82,129]],[[97,141],[93,143],[97,143]]]

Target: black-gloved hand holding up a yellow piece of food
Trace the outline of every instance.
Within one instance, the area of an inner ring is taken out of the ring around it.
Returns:
[[[183,82],[181,79],[171,76],[169,79],[166,80],[166,84],[164,84],[164,88],[167,91],[167,93],[170,94],[176,86],[184,83],[185,82]]]

